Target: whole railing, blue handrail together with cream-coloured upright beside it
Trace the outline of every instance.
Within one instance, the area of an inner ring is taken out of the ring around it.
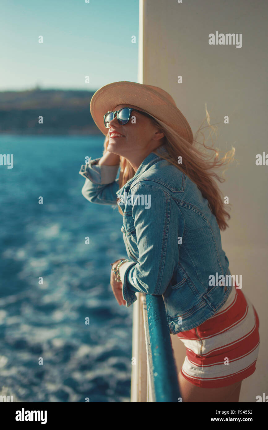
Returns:
[[[178,402],[178,373],[163,298],[142,293],[136,295],[131,402]]]

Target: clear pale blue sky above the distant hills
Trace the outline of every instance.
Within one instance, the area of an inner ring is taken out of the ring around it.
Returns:
[[[139,0],[1,0],[0,91],[137,82],[138,43]]]

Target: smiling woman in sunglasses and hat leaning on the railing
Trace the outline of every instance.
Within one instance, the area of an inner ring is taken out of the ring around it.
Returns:
[[[187,348],[182,400],[238,402],[242,380],[255,371],[259,319],[221,245],[230,215],[212,169],[234,151],[218,160],[213,149],[209,161],[173,98],[155,86],[111,83],[95,92],[90,111],[105,151],[81,166],[82,194],[117,204],[123,215],[129,258],[111,270],[118,304],[130,306],[136,292],[162,295],[170,333]]]

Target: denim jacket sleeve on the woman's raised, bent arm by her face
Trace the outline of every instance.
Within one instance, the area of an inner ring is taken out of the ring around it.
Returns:
[[[117,194],[119,184],[116,166],[99,166],[100,158],[92,160],[85,165],[82,164],[79,174],[86,178],[82,188],[83,196],[92,203],[103,205],[117,205]]]

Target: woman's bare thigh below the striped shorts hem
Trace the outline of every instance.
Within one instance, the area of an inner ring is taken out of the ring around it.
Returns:
[[[182,402],[238,402],[242,381],[221,388],[200,388],[179,372]]]

